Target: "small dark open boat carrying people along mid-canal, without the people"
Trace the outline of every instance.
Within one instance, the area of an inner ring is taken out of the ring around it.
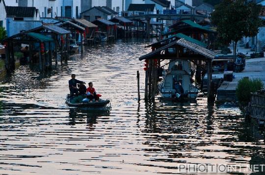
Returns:
[[[78,96],[70,96],[67,95],[66,104],[71,107],[87,107],[87,108],[106,108],[107,104],[110,105],[109,100],[100,99],[98,102],[93,100],[92,102],[88,102],[86,99],[86,95],[78,95]]]

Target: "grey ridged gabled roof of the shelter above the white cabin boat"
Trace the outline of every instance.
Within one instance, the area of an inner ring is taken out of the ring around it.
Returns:
[[[213,52],[211,50],[208,50],[208,49],[206,49],[206,48],[204,48],[202,46],[199,46],[199,45],[197,45],[195,43],[186,41],[185,39],[182,38],[182,39],[179,39],[179,40],[174,41],[172,43],[169,43],[168,45],[163,46],[163,47],[161,47],[161,48],[159,48],[159,49],[157,49],[155,51],[152,51],[152,52],[150,52],[150,53],[148,53],[146,55],[141,56],[139,58],[139,60],[141,61],[141,60],[144,60],[144,59],[150,59],[151,57],[160,54],[160,52],[162,50],[165,50],[167,48],[170,48],[170,47],[172,47],[174,45],[183,46],[186,49],[189,49],[189,50],[192,50],[194,52],[197,52],[198,54],[203,55],[203,56],[205,56],[207,58],[210,58],[210,59],[213,59],[214,56],[216,55],[215,52]]]

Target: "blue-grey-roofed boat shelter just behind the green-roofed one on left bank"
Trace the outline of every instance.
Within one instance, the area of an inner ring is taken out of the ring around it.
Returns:
[[[40,33],[46,36],[51,36],[55,41],[54,53],[55,53],[55,62],[57,63],[57,48],[61,53],[61,64],[63,60],[67,62],[68,53],[70,52],[70,44],[69,44],[69,35],[70,31],[59,27],[54,24],[44,24],[39,27],[30,29],[28,32]]]

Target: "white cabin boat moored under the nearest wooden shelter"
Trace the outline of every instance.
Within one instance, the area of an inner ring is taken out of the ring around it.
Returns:
[[[191,80],[190,63],[187,60],[171,60],[167,70],[163,70],[162,80],[158,90],[163,100],[195,100],[198,95],[198,88]],[[181,82],[184,93],[177,94],[174,83]]]

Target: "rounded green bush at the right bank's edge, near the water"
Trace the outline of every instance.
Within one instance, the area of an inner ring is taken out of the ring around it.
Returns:
[[[261,79],[248,79],[243,78],[238,82],[238,87],[236,89],[236,95],[238,101],[241,105],[246,106],[250,102],[251,94],[261,90],[264,87],[264,84]]]

